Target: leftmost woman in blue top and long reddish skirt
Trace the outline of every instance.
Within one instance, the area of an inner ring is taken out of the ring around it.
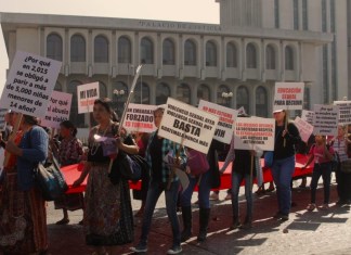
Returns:
[[[18,120],[21,115],[13,113]],[[34,169],[48,156],[48,135],[38,120],[23,115],[21,130],[9,140],[9,162],[0,197],[0,251],[4,254],[46,254],[46,201],[36,186]]]

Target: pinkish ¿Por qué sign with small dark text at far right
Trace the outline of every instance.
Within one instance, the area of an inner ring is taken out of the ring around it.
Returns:
[[[337,136],[338,117],[338,105],[314,104],[313,133],[322,136]]]

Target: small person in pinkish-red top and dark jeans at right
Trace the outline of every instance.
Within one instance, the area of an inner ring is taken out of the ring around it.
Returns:
[[[329,206],[329,196],[330,196],[330,177],[332,177],[332,161],[334,157],[333,146],[327,145],[326,137],[316,135],[315,143],[311,146],[309,152],[310,157],[306,165],[302,167],[306,168],[314,160],[314,167],[311,180],[311,204],[308,205],[307,209],[312,212],[315,209],[315,193],[316,187],[318,184],[320,177],[323,178],[324,186],[324,203],[321,206],[321,209],[327,209]]]

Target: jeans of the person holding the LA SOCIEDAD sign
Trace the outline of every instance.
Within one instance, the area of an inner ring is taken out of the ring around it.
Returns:
[[[232,206],[233,218],[239,219],[238,193],[240,183],[245,179],[245,197],[246,197],[246,220],[252,219],[252,180],[249,174],[232,171]]]

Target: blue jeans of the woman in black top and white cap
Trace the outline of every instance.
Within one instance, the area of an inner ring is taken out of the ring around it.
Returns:
[[[291,179],[295,171],[295,155],[274,160],[272,176],[276,186],[276,196],[281,214],[288,215],[291,208]]]

